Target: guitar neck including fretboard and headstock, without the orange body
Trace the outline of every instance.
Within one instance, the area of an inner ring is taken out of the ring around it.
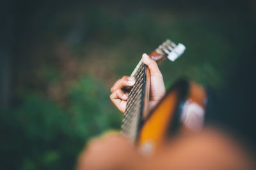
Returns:
[[[159,45],[149,57],[155,61],[161,61],[166,57],[174,61],[182,54],[182,47],[184,47],[184,45],[175,45],[175,43],[170,40],[166,40],[166,42]],[[142,59],[134,68],[131,77],[134,77],[136,82],[134,86],[129,89],[129,97],[124,113],[121,133],[135,143],[136,139],[138,139],[138,132],[143,116],[148,112],[149,102],[150,76],[147,65],[143,63]]]

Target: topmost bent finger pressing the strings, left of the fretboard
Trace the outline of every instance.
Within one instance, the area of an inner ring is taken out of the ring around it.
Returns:
[[[124,77],[122,77],[122,79],[119,79],[118,81],[115,82],[115,84],[110,89],[110,91],[113,93],[117,89],[122,89],[122,88],[125,88],[125,87],[131,87],[134,84],[135,84],[134,77],[124,76]]]

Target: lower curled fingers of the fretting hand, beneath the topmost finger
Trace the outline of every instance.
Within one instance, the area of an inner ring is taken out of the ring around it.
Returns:
[[[113,104],[116,105],[117,109],[121,111],[122,113],[125,112],[126,104],[128,95],[124,94],[124,92],[121,89],[117,89],[110,95],[110,99],[113,102]]]

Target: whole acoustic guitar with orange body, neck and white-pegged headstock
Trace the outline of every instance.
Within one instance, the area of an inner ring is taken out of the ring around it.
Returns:
[[[186,47],[166,40],[149,57],[159,62],[179,58]],[[129,89],[121,133],[143,153],[152,154],[180,130],[198,131],[204,122],[205,89],[182,79],[170,88],[159,104],[148,111],[150,72],[142,60],[131,74],[136,79]]]

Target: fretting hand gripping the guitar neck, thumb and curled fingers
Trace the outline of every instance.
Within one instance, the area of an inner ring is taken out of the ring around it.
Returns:
[[[145,65],[148,66],[150,71],[150,99],[149,109],[152,109],[165,94],[165,87],[163,81],[163,75],[160,72],[156,61],[150,59],[147,54],[142,55],[142,60]],[[121,111],[125,112],[128,93],[125,93],[122,89],[129,89],[135,84],[134,77],[124,76],[115,82],[111,88],[110,99],[113,104]]]

